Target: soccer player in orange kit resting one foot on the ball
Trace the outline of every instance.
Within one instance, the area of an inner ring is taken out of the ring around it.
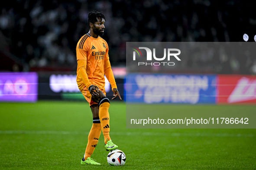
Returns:
[[[101,130],[104,135],[105,148],[107,151],[117,149],[110,138],[110,116],[108,109],[110,101],[106,98],[105,79],[107,77],[112,87],[112,98],[121,99],[117,84],[110,66],[107,42],[100,36],[104,33],[105,16],[102,12],[92,11],[88,14],[88,25],[90,31],[81,37],[76,47],[77,53],[77,84],[90,104],[93,123],[88,135],[88,143],[81,164],[100,165],[93,159],[94,149],[98,143]]]

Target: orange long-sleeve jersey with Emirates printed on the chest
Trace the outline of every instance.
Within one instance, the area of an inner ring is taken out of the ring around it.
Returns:
[[[105,78],[107,77],[110,85],[117,88],[117,84],[111,69],[107,42],[98,36],[93,38],[86,34],[80,38],[76,47],[77,54],[77,84],[80,91],[90,85],[97,85],[104,89]]]

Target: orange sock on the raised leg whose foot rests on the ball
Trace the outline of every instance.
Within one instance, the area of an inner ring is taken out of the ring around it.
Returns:
[[[106,98],[106,101],[108,99]],[[101,129],[104,135],[105,139],[105,144],[107,144],[107,140],[110,140],[110,125],[109,125],[109,113],[108,113],[108,108],[110,107],[109,100],[108,102],[100,103],[100,110],[99,110],[99,117],[100,117],[100,124],[101,124]]]

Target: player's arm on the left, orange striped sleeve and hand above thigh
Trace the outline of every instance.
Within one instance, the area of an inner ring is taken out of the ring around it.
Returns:
[[[92,85],[89,81],[86,66],[87,66],[87,53],[83,49],[77,49],[77,62],[78,62],[78,72],[81,76],[81,79],[84,82],[84,85],[89,89],[91,95],[98,95],[96,91],[98,91],[98,87],[96,85]]]

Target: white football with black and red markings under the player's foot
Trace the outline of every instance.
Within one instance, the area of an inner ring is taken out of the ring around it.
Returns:
[[[115,149],[107,155],[107,163],[111,166],[124,165],[126,156],[123,151]]]

